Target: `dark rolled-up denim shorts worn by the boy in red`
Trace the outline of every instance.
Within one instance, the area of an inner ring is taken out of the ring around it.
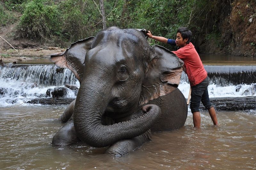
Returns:
[[[201,83],[191,87],[190,109],[192,113],[199,112],[200,101],[206,109],[213,107],[208,95],[208,85],[209,78],[207,76]]]

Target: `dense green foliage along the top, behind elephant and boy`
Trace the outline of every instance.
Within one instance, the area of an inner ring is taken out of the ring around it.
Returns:
[[[195,33],[194,37],[219,32],[215,26],[218,22],[215,14],[223,13],[219,2],[222,1],[105,0],[104,8],[107,27],[145,28],[154,35],[175,39],[180,26],[187,26]],[[10,7],[22,7],[17,37],[62,45],[95,36],[102,30],[99,1],[95,3],[92,0],[5,1]]]

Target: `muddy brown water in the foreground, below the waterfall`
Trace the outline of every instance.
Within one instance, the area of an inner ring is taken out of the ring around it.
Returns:
[[[66,105],[1,107],[0,169],[256,169],[256,111],[217,112],[212,126],[202,112],[201,129],[191,112],[185,126],[152,135],[152,141],[123,157],[84,144],[51,145],[63,125]]]

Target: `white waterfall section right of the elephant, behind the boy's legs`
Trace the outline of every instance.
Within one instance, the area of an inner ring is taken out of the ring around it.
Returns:
[[[210,79],[209,97],[242,97],[256,93],[256,66],[204,66]],[[182,72],[178,86],[188,98],[189,81]]]

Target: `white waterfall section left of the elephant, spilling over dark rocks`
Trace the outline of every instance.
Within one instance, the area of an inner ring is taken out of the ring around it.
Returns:
[[[0,106],[20,104],[34,98],[46,98],[57,86],[75,85],[79,81],[69,69],[51,65],[8,63],[0,67]],[[66,97],[76,97],[67,90]]]

